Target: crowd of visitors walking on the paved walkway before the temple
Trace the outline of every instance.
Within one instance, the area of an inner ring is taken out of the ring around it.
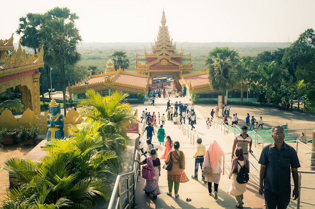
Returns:
[[[227,118],[230,116],[230,105],[224,104],[222,106],[222,115],[227,122]],[[166,115],[165,115],[166,114]],[[215,109],[211,111],[211,118],[206,120],[206,126],[209,129],[211,127],[211,121],[214,119],[214,115],[219,117],[219,108],[216,105]],[[158,116],[157,116],[158,115]],[[194,104],[188,105],[181,102],[176,102],[173,106],[170,101],[167,102],[166,113],[158,112],[158,114],[153,112],[152,114],[143,110],[141,121],[145,120],[147,124],[144,131],[146,131],[147,137],[147,148],[144,149],[143,139],[140,137],[140,151],[142,155],[146,157],[144,160],[136,160],[140,164],[147,164],[153,168],[153,178],[152,180],[146,180],[143,190],[147,195],[153,195],[153,199],[157,199],[160,194],[158,179],[161,170],[161,161],[164,160],[165,165],[163,168],[167,169],[167,184],[168,196],[174,196],[177,198],[179,196],[179,186],[180,183],[186,183],[189,181],[186,173],[186,158],[183,151],[180,150],[180,142],[171,139],[171,136],[166,135],[164,130],[165,120],[176,121],[179,119],[180,123],[186,124],[187,120],[189,125],[191,125],[191,130],[193,130],[194,124],[196,122],[196,113]],[[187,117],[187,120],[186,120]],[[232,125],[238,124],[237,113],[233,114],[231,117]],[[254,116],[247,114],[246,125],[241,127],[241,133],[236,135],[233,141],[232,147],[232,163],[229,172],[229,179],[231,179],[231,185],[227,191],[231,196],[235,196],[238,205],[235,208],[243,208],[243,194],[246,191],[246,184],[249,181],[250,172],[250,162],[249,154],[252,153],[252,137],[247,134],[248,129],[258,129],[261,127],[263,129],[262,117],[260,117],[257,122]],[[159,145],[165,146],[163,155],[158,158],[158,147],[152,143],[152,137],[155,135],[154,126],[159,124],[159,129],[157,132],[157,138]],[[249,126],[251,127],[249,128]],[[295,150],[284,142],[284,129],[281,126],[274,126],[272,128],[272,138],[274,143],[264,147],[259,158],[260,168],[260,182],[259,182],[259,194],[264,195],[265,205],[267,209],[275,209],[276,207],[286,208],[290,201],[290,172],[292,172],[292,177],[294,181],[293,197],[297,199],[299,196],[298,191],[298,175],[297,168],[300,167],[297,154]],[[300,136],[300,140],[306,141],[305,135]],[[287,155],[287,152],[290,155]],[[149,156],[147,156],[149,154]],[[222,173],[222,157],[224,152],[222,151],[220,145],[216,140],[211,140],[209,147],[203,145],[201,138],[197,139],[197,145],[193,157],[195,158],[193,175],[191,179],[198,181],[198,169],[201,169],[201,181],[208,184],[208,192],[210,196],[214,199],[218,199],[218,188]],[[285,156],[288,158],[286,160]],[[279,160],[279,162],[277,161]],[[172,164],[171,169],[168,170],[169,164]],[[282,167],[278,170],[276,168]],[[280,177],[281,176],[281,177]],[[279,178],[280,177],[280,178]],[[282,178],[283,177],[283,178]],[[277,183],[277,181],[283,183],[282,186]],[[214,185],[214,192],[212,192],[212,184]],[[174,187],[174,189],[173,189]],[[191,199],[187,199],[187,202]]]

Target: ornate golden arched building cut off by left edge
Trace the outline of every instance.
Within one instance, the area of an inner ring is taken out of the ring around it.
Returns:
[[[37,54],[26,54],[19,47],[14,50],[13,34],[9,39],[0,40],[0,93],[17,87],[21,92],[24,109],[30,108],[40,119],[39,68],[44,67],[44,50]],[[6,51],[12,51],[11,57]]]

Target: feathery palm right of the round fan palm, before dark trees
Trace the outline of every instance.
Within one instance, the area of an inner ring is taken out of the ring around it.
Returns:
[[[268,103],[270,104],[271,94],[273,91],[273,86],[277,79],[279,79],[279,75],[281,74],[281,70],[276,65],[275,61],[270,62],[268,65],[261,64],[258,66],[258,73],[260,75],[259,83],[265,83],[265,89],[268,94]]]

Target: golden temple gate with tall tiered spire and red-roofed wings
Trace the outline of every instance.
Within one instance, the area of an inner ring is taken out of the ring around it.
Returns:
[[[88,89],[94,89],[101,95],[111,95],[112,91],[121,90],[127,92],[127,99],[137,99],[138,93],[148,94],[152,88],[153,78],[157,76],[172,76],[174,79],[173,90],[183,91],[187,96],[199,95],[199,98],[218,99],[219,92],[214,91],[208,79],[208,72],[199,70],[192,73],[193,66],[191,52],[184,54],[183,49],[176,50],[176,43],[169,35],[166,26],[165,12],[163,10],[161,26],[158,28],[158,35],[155,44],[151,44],[151,52],[144,49],[143,54],[136,53],[136,65],[134,70],[119,69],[115,71],[111,59],[108,60],[104,74],[91,75],[73,86],[69,86],[70,95],[73,94],[73,101],[85,97]],[[238,92],[235,94],[235,92]],[[240,98],[240,85],[228,92],[229,97]]]

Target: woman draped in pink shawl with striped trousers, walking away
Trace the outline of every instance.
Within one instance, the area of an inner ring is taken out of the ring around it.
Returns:
[[[210,142],[209,148],[204,155],[204,162],[202,169],[212,168],[212,175],[205,175],[205,181],[208,182],[208,191],[209,195],[212,195],[212,183],[215,184],[215,200],[218,199],[218,186],[221,178],[221,164],[222,164],[222,156],[224,152],[219,146],[216,140],[212,140]]]

